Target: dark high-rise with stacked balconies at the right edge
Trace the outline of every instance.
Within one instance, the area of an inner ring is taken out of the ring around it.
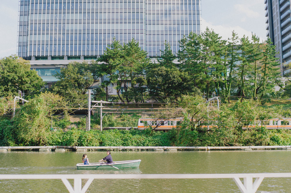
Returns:
[[[278,51],[282,75],[287,73],[284,64],[291,62],[291,12],[290,0],[265,0],[267,37]]]

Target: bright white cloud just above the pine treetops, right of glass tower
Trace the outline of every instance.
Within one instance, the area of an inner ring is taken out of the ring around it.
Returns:
[[[252,37],[252,32],[248,31],[240,26],[229,26],[229,25],[213,25],[211,22],[207,22],[202,18],[202,32],[205,31],[206,27],[213,29],[215,33],[218,33],[222,39],[228,39],[232,37],[233,30],[237,33],[239,38],[244,35],[248,36],[249,39]],[[260,37],[260,40],[265,40],[266,37]]]

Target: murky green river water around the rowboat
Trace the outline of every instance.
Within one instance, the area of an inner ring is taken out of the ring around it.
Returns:
[[[89,162],[105,151],[87,151]],[[141,159],[136,169],[77,170],[84,152],[0,152],[0,174],[223,174],[291,172],[290,150],[266,151],[111,151],[113,161]],[[83,180],[84,181],[84,180]],[[72,182],[72,181],[71,181]],[[85,183],[85,181],[83,182]],[[265,178],[258,189],[291,192],[290,178]],[[67,193],[61,180],[0,180],[0,192]],[[232,179],[97,180],[86,193],[239,193]]]

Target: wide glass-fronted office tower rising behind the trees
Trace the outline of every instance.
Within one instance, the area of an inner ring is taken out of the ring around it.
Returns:
[[[164,41],[173,53],[190,31],[200,34],[201,0],[19,0],[18,55],[44,81],[74,60],[97,59],[116,37],[132,38],[149,57]]]

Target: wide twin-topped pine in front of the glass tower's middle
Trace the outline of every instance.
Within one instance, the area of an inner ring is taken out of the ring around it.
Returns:
[[[98,62],[104,62],[100,65],[101,75],[108,74],[108,81],[105,85],[116,85],[117,95],[122,102],[130,102],[133,98],[141,95],[136,86],[141,77],[144,76],[144,69],[150,64],[150,59],[146,57],[147,52],[139,47],[139,43],[132,39],[127,44],[120,46],[119,41],[114,40],[111,46],[106,50],[104,56],[100,57]],[[109,62],[109,63],[108,63]],[[110,64],[106,67],[106,64]],[[123,89],[124,98],[120,95]]]

